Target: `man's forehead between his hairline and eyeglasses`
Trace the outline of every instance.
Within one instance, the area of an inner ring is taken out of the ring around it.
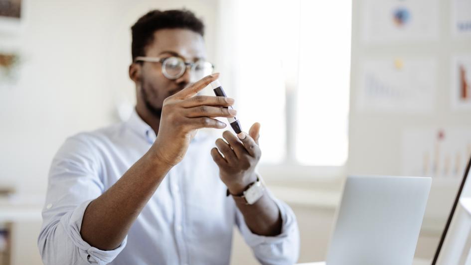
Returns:
[[[185,59],[205,58],[203,37],[189,29],[160,29],[146,48],[147,56],[158,56],[164,51],[179,54]]]

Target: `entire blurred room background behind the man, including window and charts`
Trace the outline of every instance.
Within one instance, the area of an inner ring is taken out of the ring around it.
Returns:
[[[130,26],[181,7],[205,22],[208,60],[243,125],[262,123],[260,171],[297,215],[300,262],[324,259],[348,174],[434,176],[416,252],[431,258],[471,152],[469,102],[451,92],[457,60],[471,55],[452,22],[457,1],[316,2],[22,0],[19,23],[0,20],[0,53],[19,58],[0,81],[0,186],[15,191],[0,200],[10,264],[40,264],[60,144],[133,106]],[[256,264],[235,235],[232,264]]]

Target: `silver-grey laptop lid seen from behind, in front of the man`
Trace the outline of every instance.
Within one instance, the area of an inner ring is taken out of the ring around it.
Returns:
[[[411,265],[429,177],[349,176],[327,265]]]

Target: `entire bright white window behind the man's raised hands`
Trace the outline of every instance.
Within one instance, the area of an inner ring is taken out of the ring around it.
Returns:
[[[351,2],[220,3],[217,70],[236,98],[243,130],[262,124],[262,163],[342,166]]]

